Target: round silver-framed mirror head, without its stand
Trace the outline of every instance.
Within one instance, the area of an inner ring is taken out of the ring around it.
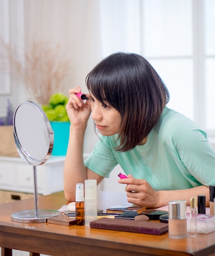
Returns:
[[[54,134],[46,114],[36,103],[25,101],[13,115],[13,132],[18,152],[25,162],[46,162],[53,149]]]

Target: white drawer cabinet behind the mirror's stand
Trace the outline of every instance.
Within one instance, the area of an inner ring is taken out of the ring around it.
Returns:
[[[64,160],[62,156],[51,156],[37,166],[38,194],[64,190]],[[33,166],[26,164],[21,157],[0,156],[0,190],[33,193]]]

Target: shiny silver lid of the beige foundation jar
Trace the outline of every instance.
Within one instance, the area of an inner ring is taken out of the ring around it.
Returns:
[[[169,201],[169,220],[186,219],[186,201]]]

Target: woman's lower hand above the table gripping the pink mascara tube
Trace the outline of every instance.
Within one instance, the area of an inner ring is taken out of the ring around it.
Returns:
[[[128,175],[127,179],[118,180],[118,183],[127,184],[127,201],[147,208],[158,208],[159,191],[152,189],[146,180],[134,179],[132,175]]]

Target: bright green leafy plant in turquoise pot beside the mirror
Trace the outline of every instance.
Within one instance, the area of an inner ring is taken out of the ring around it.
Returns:
[[[68,97],[57,92],[51,95],[48,105],[42,105],[54,131],[52,155],[66,155],[70,121],[66,112]]]

